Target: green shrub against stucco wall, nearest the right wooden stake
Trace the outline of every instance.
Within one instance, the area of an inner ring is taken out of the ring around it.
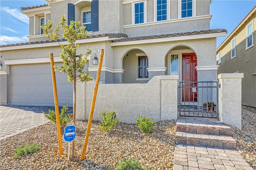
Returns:
[[[100,112],[102,114],[102,119],[100,119],[100,128],[104,132],[112,132],[118,123],[118,120],[115,115],[114,110],[110,110],[109,112],[105,111],[105,108],[103,108],[103,111]]]

